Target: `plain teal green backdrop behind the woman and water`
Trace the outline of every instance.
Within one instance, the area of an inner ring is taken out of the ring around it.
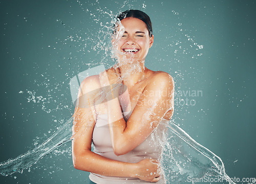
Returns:
[[[0,162],[44,142],[72,116],[70,79],[113,64],[93,50],[105,31],[100,22],[111,21],[103,12],[130,8],[153,23],[145,65],[172,75],[176,91],[202,91],[188,97],[194,105],[175,104],[175,123],[220,156],[230,177],[256,177],[255,1],[0,1]],[[46,100],[28,102],[27,91]],[[0,183],[89,183],[73,168],[70,146]]]

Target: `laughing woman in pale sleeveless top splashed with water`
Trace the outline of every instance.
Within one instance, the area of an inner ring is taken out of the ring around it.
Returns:
[[[118,64],[80,85],[73,164],[96,183],[165,183],[162,122],[173,115],[174,81],[144,66],[154,42],[150,17],[127,10],[118,19],[112,39]]]

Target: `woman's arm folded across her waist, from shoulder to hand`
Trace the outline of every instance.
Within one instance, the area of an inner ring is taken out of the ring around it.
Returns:
[[[99,83],[97,76],[89,77],[82,82],[79,90],[79,98],[73,116],[72,156],[74,167],[106,176],[137,177],[146,181],[158,181],[161,171],[157,160],[145,159],[131,164],[105,158],[91,151],[92,134],[96,122],[95,110],[91,104],[97,96],[97,90],[95,90],[98,87],[97,83]],[[90,93],[89,89],[94,93]]]

